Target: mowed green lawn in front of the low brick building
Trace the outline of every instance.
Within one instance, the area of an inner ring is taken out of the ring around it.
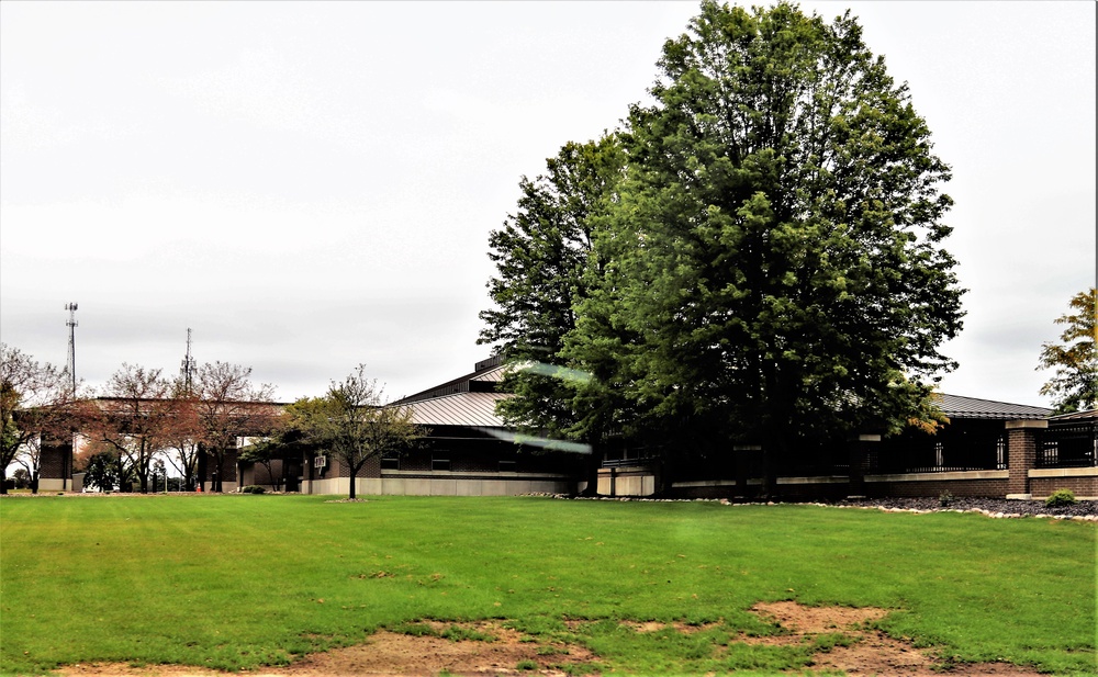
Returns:
[[[419,619],[507,619],[605,670],[799,669],[759,601],[885,607],[946,659],[1095,673],[1093,523],[810,506],[316,496],[0,500],[0,672],[280,665]],[[579,629],[564,619],[589,619]],[[636,633],[615,621],[721,622]],[[674,636],[673,636],[674,635]]]

